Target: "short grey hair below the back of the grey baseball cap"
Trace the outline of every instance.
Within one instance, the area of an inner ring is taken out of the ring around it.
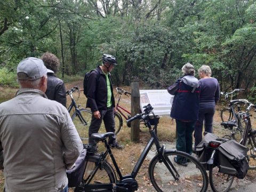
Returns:
[[[21,88],[23,87],[29,87],[30,89],[38,89],[40,88],[40,83],[42,81],[42,78],[45,77],[47,78],[47,75],[44,75],[41,78],[38,78],[34,81],[29,81],[29,80],[20,80],[19,78],[22,77],[28,77],[28,75],[26,73],[20,72],[17,74],[18,78],[17,78],[17,83],[19,83],[19,85],[21,86]]]

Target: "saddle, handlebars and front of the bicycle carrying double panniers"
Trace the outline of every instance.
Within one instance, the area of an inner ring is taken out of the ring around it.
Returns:
[[[241,129],[243,137],[239,141],[239,143],[249,148],[249,154],[247,154],[249,156],[249,169],[256,169],[256,130],[252,129],[250,118],[252,116],[250,114],[250,111],[252,108],[254,108],[254,112],[256,112],[256,106],[253,105],[251,102],[247,102],[246,105],[248,105],[246,111],[240,113],[246,126],[244,130]],[[230,130],[232,130],[233,127],[236,126],[236,124],[234,124],[233,122],[222,122],[221,125]],[[234,134],[231,134],[230,137],[234,139]]]

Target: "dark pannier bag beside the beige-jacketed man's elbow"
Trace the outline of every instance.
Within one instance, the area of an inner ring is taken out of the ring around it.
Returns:
[[[74,166],[71,169],[66,170],[68,187],[77,187],[81,183],[86,163],[85,156],[86,149],[83,149],[81,155],[77,158]]]

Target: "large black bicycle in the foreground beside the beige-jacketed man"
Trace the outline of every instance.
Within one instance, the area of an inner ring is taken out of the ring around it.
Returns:
[[[138,162],[129,175],[122,175],[114,155],[108,145],[107,138],[114,133],[105,134],[94,133],[92,138],[95,142],[105,143],[106,151],[95,154],[95,147],[84,145],[89,153],[86,154],[86,166],[81,184],[75,188],[75,192],[89,191],[122,191],[131,192],[138,189],[138,182],[135,180],[140,167],[145,160],[149,150],[155,144],[156,155],[151,159],[148,167],[148,175],[156,191],[206,191],[208,186],[207,173],[197,159],[189,154],[177,150],[167,150],[165,145],[160,146],[156,135],[157,123],[151,127],[149,115],[153,115],[153,107],[146,106],[141,114],[127,120],[142,119],[147,124],[151,138],[142,151]],[[174,157],[180,156],[190,162],[187,167],[174,162]],[[115,167],[108,163],[111,162]],[[117,173],[117,177],[116,177]]]

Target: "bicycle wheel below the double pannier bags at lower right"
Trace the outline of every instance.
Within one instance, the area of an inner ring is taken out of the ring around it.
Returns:
[[[209,168],[210,186],[214,192],[226,192],[232,186],[234,176],[220,173],[218,166]]]

